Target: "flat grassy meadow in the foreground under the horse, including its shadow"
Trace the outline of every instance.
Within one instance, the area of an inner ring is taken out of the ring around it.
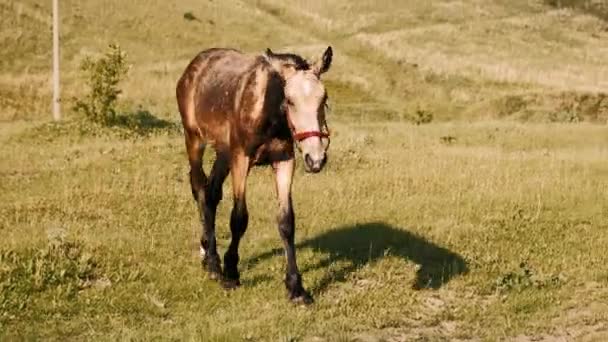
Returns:
[[[200,269],[180,134],[57,129],[3,128],[3,339],[494,340],[608,318],[606,127],[335,124],[327,169],[295,177],[307,309],[282,285],[270,170],[227,293]]]

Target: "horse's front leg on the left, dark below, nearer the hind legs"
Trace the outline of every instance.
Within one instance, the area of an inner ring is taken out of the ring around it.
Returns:
[[[249,222],[247,203],[245,201],[245,186],[249,173],[249,158],[244,154],[235,155],[232,159],[232,189],[234,192],[234,207],[230,215],[230,232],[232,239],[226,254],[224,254],[224,281],[225,288],[234,288],[240,285],[238,271],[239,243]]]

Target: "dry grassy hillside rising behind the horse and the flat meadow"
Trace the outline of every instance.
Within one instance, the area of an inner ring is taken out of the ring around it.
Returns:
[[[3,120],[48,117],[49,7],[0,4],[9,18],[0,23],[8,47],[0,51]],[[523,0],[62,1],[63,98],[82,90],[80,60],[111,42],[133,64],[125,100],[171,118],[175,80],[204,48],[315,56],[332,45],[327,77],[338,117],[408,119],[423,111],[435,119],[605,122],[608,24],[597,15],[601,8],[579,7]]]

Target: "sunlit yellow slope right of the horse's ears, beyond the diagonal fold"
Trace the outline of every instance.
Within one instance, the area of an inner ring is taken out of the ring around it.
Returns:
[[[562,94],[608,87],[606,23],[572,9],[528,1],[260,2],[338,39],[353,58],[337,79],[359,86],[345,75],[364,75],[363,89],[397,113],[419,106],[442,119],[491,118],[510,110],[496,105],[505,97],[535,94],[545,106],[528,112],[546,119],[567,111],[555,100]]]

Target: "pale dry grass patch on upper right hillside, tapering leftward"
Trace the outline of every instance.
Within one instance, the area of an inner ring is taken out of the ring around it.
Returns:
[[[572,21],[580,31],[564,26]],[[549,89],[606,92],[608,52],[603,22],[570,10],[483,23],[438,24],[357,35],[395,60],[438,74]],[[554,39],[563,41],[555,44]],[[429,39],[433,37],[433,39]],[[534,46],[534,48],[531,48]]]

